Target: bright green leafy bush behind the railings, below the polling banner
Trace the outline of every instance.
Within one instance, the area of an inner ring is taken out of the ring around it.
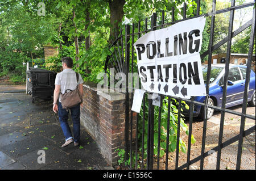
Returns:
[[[147,100],[147,99],[146,99]],[[177,110],[177,101],[175,99],[171,99],[170,102],[170,130],[169,130],[169,145],[168,145],[168,150],[170,152],[173,152],[176,150],[176,141],[177,141],[177,119],[178,119],[178,110]],[[183,105],[182,107],[185,107],[186,109],[189,109],[188,105],[185,104],[184,101],[181,101],[181,104]],[[142,154],[144,158],[147,157],[147,136],[148,136],[148,103],[145,104],[146,111],[144,115],[144,142],[143,145],[142,143],[142,131],[143,131],[143,110],[139,113],[139,125],[138,125],[138,144],[139,144],[139,155],[142,158]],[[143,108],[142,108],[143,109]],[[182,108],[181,108],[182,111]],[[158,155],[158,112],[159,112],[159,107],[155,106],[154,110],[154,155]],[[164,154],[166,154],[167,151],[167,116],[168,116],[168,100],[164,99],[163,100],[163,106],[161,109],[161,124],[160,124],[160,157],[163,157]],[[180,135],[182,134],[187,134],[188,135],[188,126],[184,123],[183,115],[181,115],[180,119]],[[192,134],[191,136],[191,144],[195,144],[196,140]],[[142,147],[144,147],[144,153],[142,153]],[[125,160],[125,150],[124,149],[116,149],[115,151],[118,151],[118,165],[130,165],[130,153],[129,154],[129,159]],[[187,146],[185,142],[182,140],[180,136],[179,140],[179,151],[183,153],[187,153]],[[133,151],[133,165],[132,167],[135,167],[135,153]],[[139,164],[138,164],[139,166]]]

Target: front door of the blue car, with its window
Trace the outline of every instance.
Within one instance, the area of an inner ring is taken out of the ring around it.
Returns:
[[[229,85],[228,83],[226,91],[226,107],[241,104],[245,83],[242,81],[241,73],[238,67],[229,69],[228,81],[232,81],[230,83],[233,85]]]

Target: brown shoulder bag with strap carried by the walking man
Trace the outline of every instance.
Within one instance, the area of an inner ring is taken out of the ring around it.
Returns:
[[[75,107],[82,103],[82,96],[79,91],[79,74],[76,73],[77,86],[75,90],[67,89],[64,94],[61,94],[61,105],[65,110]],[[67,92],[69,90],[69,92]]]

